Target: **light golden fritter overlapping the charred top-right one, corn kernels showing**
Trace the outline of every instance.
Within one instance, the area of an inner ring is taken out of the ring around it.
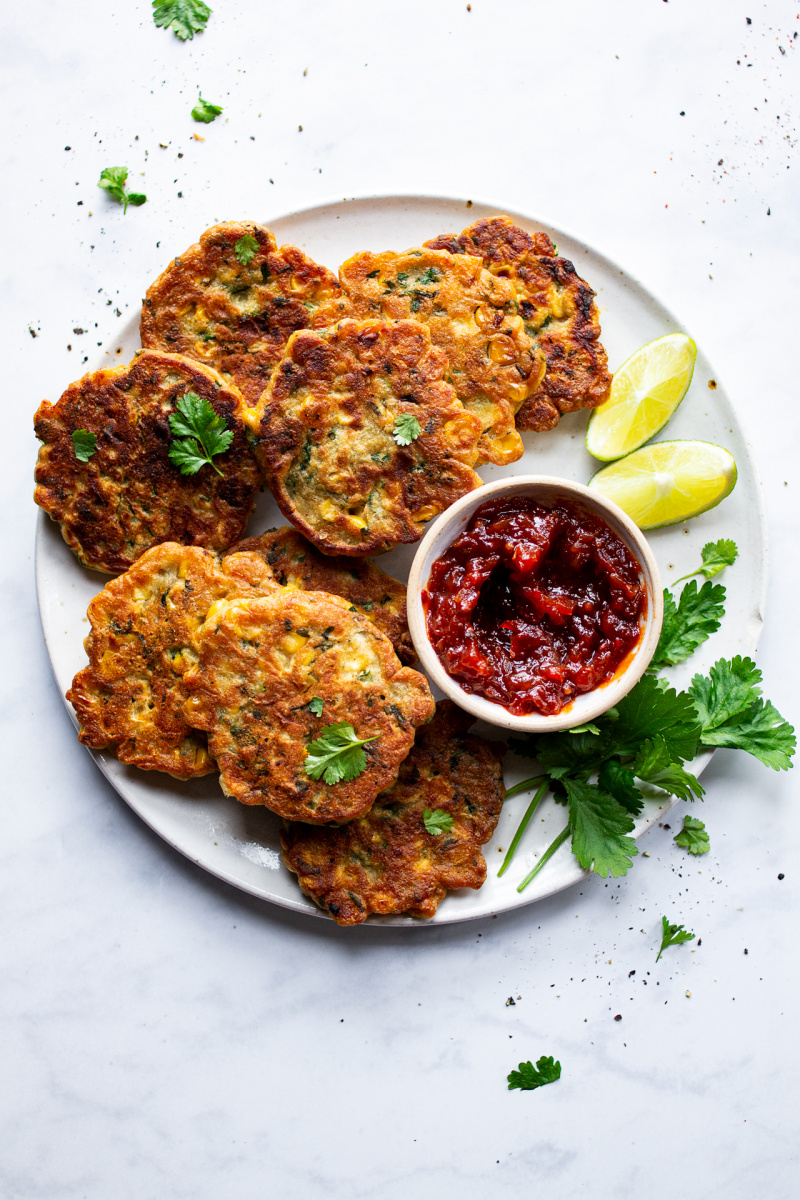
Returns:
[[[315,328],[342,316],[423,322],[447,355],[445,379],[481,420],[477,466],[519,458],[515,413],[539,388],[545,361],[517,314],[512,281],[469,254],[421,248],[354,254],[341,266],[339,283],[344,296],[319,310]]]

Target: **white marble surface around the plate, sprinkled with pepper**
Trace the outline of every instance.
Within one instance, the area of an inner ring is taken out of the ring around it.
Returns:
[[[30,502],[36,404],[212,221],[486,198],[618,259],[716,365],[770,516],[759,664],[796,722],[795,31],[777,0],[239,0],[186,44],[144,0],[6,12],[4,1200],[796,1194],[794,773],[721,752],[705,858],[676,809],[626,878],[497,919],[285,913],[173,852],[77,745]],[[149,197],[125,216],[96,187],[120,163]],[[698,942],[656,966],[662,913]],[[509,1092],[543,1054],[561,1080]]]

